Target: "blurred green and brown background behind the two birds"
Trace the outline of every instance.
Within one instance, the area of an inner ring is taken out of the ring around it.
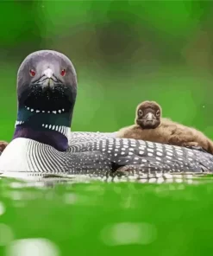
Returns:
[[[1,139],[16,121],[16,72],[55,49],[78,73],[72,131],[132,125],[142,100],[213,139],[210,1],[7,1],[0,16]]]

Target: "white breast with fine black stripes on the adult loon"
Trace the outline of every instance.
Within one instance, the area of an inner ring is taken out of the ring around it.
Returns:
[[[57,173],[63,170],[67,154],[28,138],[16,138],[0,157],[1,173]],[[61,171],[62,172],[62,171]]]

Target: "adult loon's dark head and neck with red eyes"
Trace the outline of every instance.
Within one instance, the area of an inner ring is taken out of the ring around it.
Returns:
[[[29,54],[17,74],[14,138],[32,138],[66,150],[76,95],[77,75],[66,55],[50,50]]]

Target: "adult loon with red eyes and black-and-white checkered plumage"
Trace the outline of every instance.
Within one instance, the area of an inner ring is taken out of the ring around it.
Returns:
[[[70,132],[77,95],[72,62],[59,52],[29,54],[17,74],[17,119],[0,157],[2,176],[89,176],[122,171],[140,178],[166,173],[210,173],[213,156],[116,133]]]

